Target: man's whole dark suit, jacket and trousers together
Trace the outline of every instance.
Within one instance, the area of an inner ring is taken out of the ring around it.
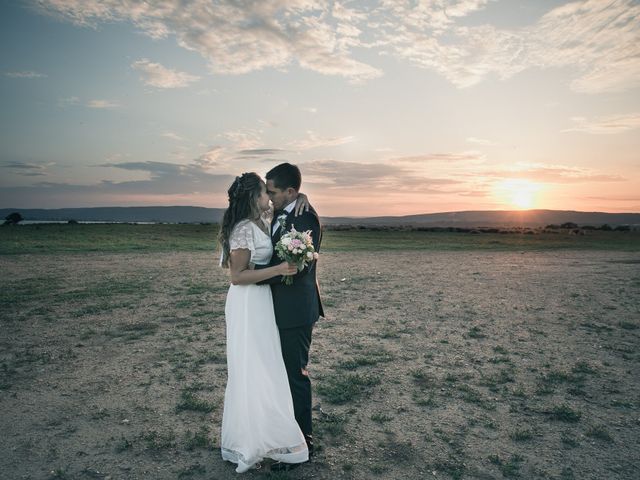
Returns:
[[[274,215],[273,222],[277,221],[277,216]],[[297,217],[292,211],[287,214],[284,228],[279,227],[275,233],[272,229],[271,241],[274,253],[269,265],[262,268],[282,262],[275,253],[275,245],[283,233],[291,230],[292,226],[299,232],[311,230],[313,246],[316,252],[320,251],[322,232],[318,214],[312,207],[308,212]],[[260,266],[256,265],[256,268],[260,268]],[[272,277],[260,283],[271,285],[273,308],[282,345],[282,357],[289,378],[296,421],[300,425],[302,433],[311,435],[311,382],[306,370],[309,362],[313,325],[318,317],[324,316],[316,280],[316,262],[311,262],[311,265],[295,274],[292,285],[283,284],[281,276]]]

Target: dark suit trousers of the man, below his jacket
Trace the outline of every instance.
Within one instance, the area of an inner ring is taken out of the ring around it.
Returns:
[[[300,430],[311,435],[311,380],[307,372],[313,325],[280,329],[282,358],[289,377],[293,411]]]

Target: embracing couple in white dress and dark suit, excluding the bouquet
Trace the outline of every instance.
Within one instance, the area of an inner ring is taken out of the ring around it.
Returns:
[[[316,262],[298,271],[274,248],[294,227],[311,232],[318,252],[320,221],[300,193],[298,167],[280,164],[266,180],[255,173],[236,177],[219,238],[221,263],[232,283],[225,305],[228,377],[221,452],[237,464],[238,473],[264,458],[276,461],[272,471],[286,470],[313,453],[307,363],[313,325],[324,315]],[[284,277],[293,282],[285,284]]]

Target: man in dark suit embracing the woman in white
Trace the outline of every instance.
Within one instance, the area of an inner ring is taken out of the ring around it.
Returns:
[[[313,247],[316,252],[319,252],[322,233],[318,214],[313,207],[299,216],[294,214],[301,183],[300,170],[290,163],[282,163],[267,173],[267,193],[275,210],[271,223],[271,242],[275,247],[280,237],[291,230],[291,227],[295,227],[299,232],[311,230]],[[264,267],[280,262],[282,260],[274,254],[271,263]],[[313,453],[311,381],[307,363],[313,325],[319,316],[324,316],[316,281],[316,262],[312,261],[310,265],[294,275],[292,285],[285,285],[281,280],[282,277],[273,277],[261,283],[271,285],[282,357],[293,397],[293,410],[311,455]]]

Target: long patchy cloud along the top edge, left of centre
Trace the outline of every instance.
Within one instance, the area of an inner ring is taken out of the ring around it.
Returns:
[[[36,0],[41,11],[76,25],[132,22],[154,39],[174,36],[199,53],[213,73],[242,74],[263,68],[302,68],[362,81],[382,75],[351,56],[359,33],[348,23],[329,22],[328,2],[154,2],[120,0]],[[341,11],[345,16],[344,9]],[[349,28],[351,27],[351,28]],[[156,85],[157,86],[157,85]],[[166,87],[161,87],[166,88]]]

